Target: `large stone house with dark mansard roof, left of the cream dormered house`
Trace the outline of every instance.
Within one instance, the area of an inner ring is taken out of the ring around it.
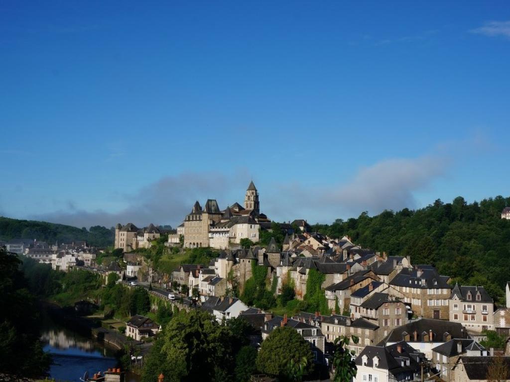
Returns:
[[[439,275],[431,265],[403,268],[391,281],[390,286],[404,295],[404,303],[410,304],[419,317],[449,318],[451,286],[449,276]]]

